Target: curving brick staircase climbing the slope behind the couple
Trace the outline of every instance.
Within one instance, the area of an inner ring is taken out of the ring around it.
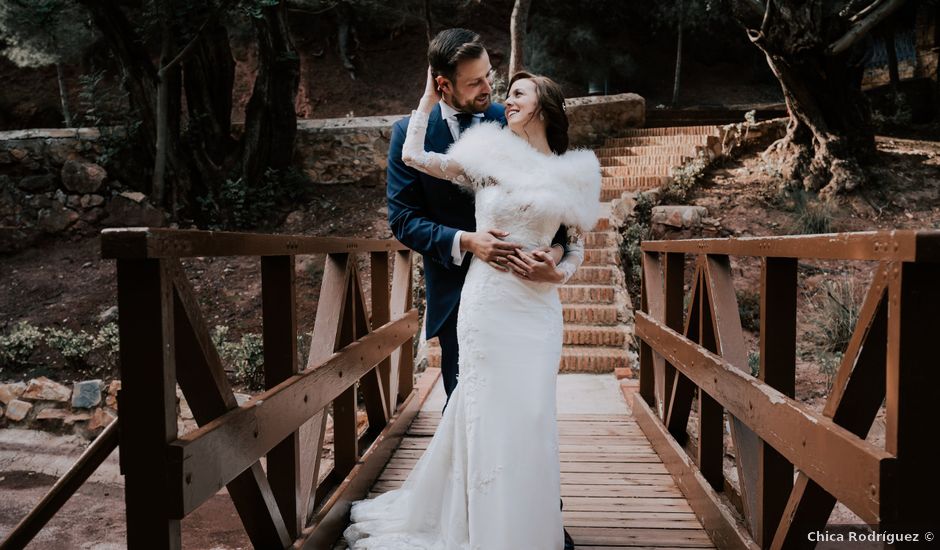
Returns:
[[[638,128],[608,139],[596,150],[601,161],[602,217],[585,235],[581,268],[560,287],[565,321],[560,372],[602,373],[628,367],[626,320],[630,300],[623,284],[620,236],[610,224],[610,201],[625,191],[649,189],[670,180],[670,170],[718,146],[715,126]],[[437,339],[428,342],[428,366],[440,367]]]

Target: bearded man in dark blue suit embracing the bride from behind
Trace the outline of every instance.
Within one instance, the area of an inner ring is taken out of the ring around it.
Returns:
[[[503,106],[492,102],[493,68],[477,33],[441,31],[428,46],[428,64],[441,101],[429,116],[426,151],[446,152],[461,132],[481,122],[506,124]],[[496,267],[521,245],[499,228],[476,227],[471,194],[402,162],[408,120],[399,120],[392,127],[386,184],[388,222],[395,238],[424,257],[425,334],[428,339],[436,336],[441,344],[441,375],[449,400],[457,385],[457,309],[470,264],[468,254]],[[550,254],[556,264],[565,253],[566,234],[562,226],[552,239]],[[564,537],[565,550],[573,549],[567,531]]]

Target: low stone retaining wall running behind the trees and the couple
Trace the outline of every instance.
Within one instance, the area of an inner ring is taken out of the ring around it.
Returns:
[[[636,94],[567,100],[572,147],[642,126]],[[385,184],[391,126],[405,115],[301,120],[295,164],[319,184]],[[0,254],[50,235],[162,226],[164,213],[98,164],[113,139],[93,128],[0,132]]]

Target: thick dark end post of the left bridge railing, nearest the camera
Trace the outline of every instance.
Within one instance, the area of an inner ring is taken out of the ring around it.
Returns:
[[[127,546],[181,547],[167,444],[176,439],[173,287],[165,260],[118,260],[118,392]]]

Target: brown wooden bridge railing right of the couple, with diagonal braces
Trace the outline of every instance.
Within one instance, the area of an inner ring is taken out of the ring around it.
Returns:
[[[642,250],[634,413],[719,548],[807,547],[836,501],[882,529],[937,527],[940,231],[647,241]],[[686,255],[694,274],[684,314]],[[759,378],[747,366],[729,256],[761,262]],[[794,399],[799,259],[877,262],[822,413]],[[696,395],[690,458],[682,445]],[[882,403],[884,448],[866,441]],[[719,498],[729,487],[725,412],[744,525]]]

